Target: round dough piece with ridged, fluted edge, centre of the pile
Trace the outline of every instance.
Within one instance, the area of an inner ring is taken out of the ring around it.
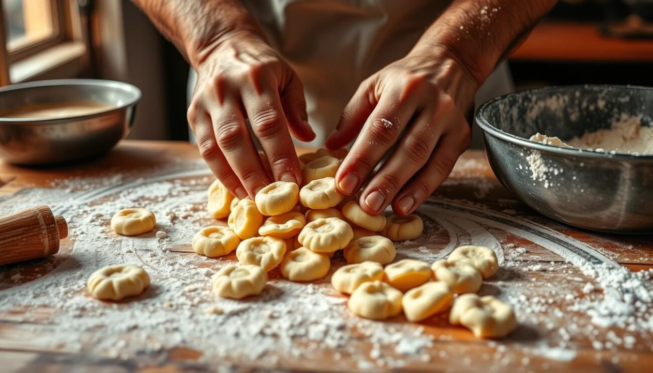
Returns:
[[[313,252],[334,252],[347,246],[354,232],[339,218],[317,219],[304,226],[299,242]]]

